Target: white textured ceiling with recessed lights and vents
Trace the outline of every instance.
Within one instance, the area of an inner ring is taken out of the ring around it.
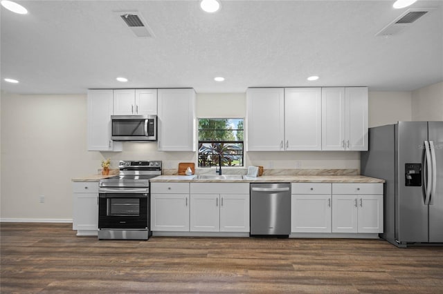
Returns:
[[[87,88],[244,92],[256,86],[415,90],[443,80],[443,1],[392,37],[375,36],[407,8],[383,1],[17,1],[1,8],[1,88],[28,94]],[[138,11],[137,38],[116,11]],[[319,75],[318,81],[306,80]],[[125,84],[116,77],[127,77]],[[225,77],[216,82],[214,77]],[[8,84],[3,78],[19,79]]]

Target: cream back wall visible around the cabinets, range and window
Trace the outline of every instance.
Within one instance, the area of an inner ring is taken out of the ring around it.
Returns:
[[[1,94],[1,219],[71,219],[71,178],[98,173],[100,161],[108,157],[111,167],[120,159],[159,159],[165,168],[196,160],[195,153],[159,152],[155,142],[124,143],[121,153],[87,151],[86,95]],[[370,126],[410,120],[410,97],[408,92],[370,92]],[[245,93],[197,95],[198,117],[245,114]],[[246,166],[264,168],[360,165],[358,152],[250,152],[245,160]],[[39,203],[40,195],[45,203]]]

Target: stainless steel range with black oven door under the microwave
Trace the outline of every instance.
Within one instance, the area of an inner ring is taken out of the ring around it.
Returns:
[[[100,179],[98,239],[149,239],[150,179],[161,161],[120,161],[119,175]]]

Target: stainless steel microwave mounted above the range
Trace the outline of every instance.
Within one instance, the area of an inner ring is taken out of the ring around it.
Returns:
[[[156,141],[156,115],[111,115],[114,141]]]

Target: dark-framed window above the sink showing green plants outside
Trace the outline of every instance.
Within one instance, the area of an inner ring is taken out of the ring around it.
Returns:
[[[243,119],[199,119],[199,167],[243,166]]]

